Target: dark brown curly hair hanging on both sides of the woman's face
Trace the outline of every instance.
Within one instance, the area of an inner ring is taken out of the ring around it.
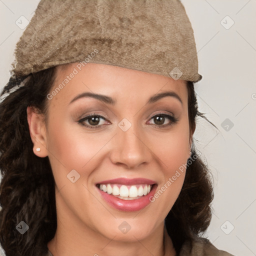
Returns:
[[[47,243],[56,231],[54,177],[48,157],[33,153],[27,123],[27,106],[47,113],[47,98],[54,79],[55,67],[30,74],[24,86],[0,103],[0,244],[6,256],[46,255]],[[1,95],[24,77],[11,77]],[[195,128],[198,111],[193,82],[187,82],[190,129]],[[194,157],[195,156],[195,157]],[[179,253],[185,240],[192,240],[206,231],[211,219],[213,188],[209,170],[196,154],[192,143],[180,194],[165,218],[167,232]],[[20,221],[29,229],[20,234]]]

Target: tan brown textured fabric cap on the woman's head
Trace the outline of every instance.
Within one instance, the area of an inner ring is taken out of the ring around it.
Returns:
[[[198,81],[193,29],[179,0],[41,0],[16,44],[12,74],[69,62]]]

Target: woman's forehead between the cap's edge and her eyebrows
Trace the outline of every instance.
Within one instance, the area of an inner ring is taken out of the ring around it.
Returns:
[[[163,91],[175,92],[182,101],[187,98],[184,80],[99,63],[87,63],[82,66],[75,62],[57,66],[53,90],[61,83],[64,88],[55,99],[68,100],[85,91],[109,95],[117,100],[125,100],[128,97],[148,98]]]

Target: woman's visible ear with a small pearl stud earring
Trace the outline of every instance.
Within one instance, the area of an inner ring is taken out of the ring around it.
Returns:
[[[48,150],[44,116],[32,106],[26,108],[26,114],[29,133],[33,142],[33,152],[39,157],[45,157],[48,155]],[[40,148],[40,150],[37,151],[36,148]]]

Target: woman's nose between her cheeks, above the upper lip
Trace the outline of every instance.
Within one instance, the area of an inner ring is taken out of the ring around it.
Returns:
[[[133,125],[123,131],[117,127],[117,134],[110,153],[111,162],[124,165],[125,168],[137,168],[141,164],[150,162],[152,152],[143,131],[138,131]]]

